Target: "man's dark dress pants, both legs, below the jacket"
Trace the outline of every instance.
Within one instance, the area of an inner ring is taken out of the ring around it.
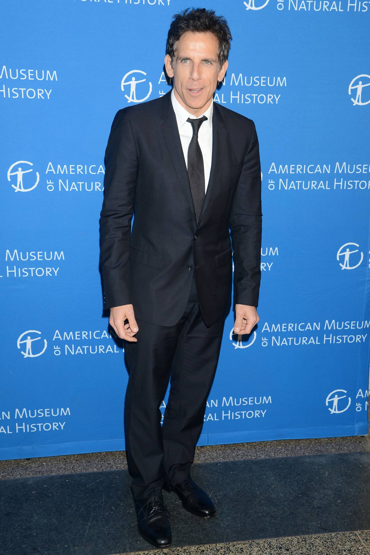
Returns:
[[[134,307],[135,310],[135,307]],[[137,320],[137,342],[126,341],[129,381],[125,441],[134,499],[162,495],[190,477],[195,445],[219,360],[225,317],[210,327],[202,319],[193,271],[189,299],[174,326]],[[170,392],[161,426],[160,405]]]

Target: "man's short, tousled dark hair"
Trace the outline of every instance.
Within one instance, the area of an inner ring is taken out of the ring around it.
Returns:
[[[219,68],[229,57],[230,41],[232,41],[229,25],[222,16],[216,16],[213,9],[186,8],[183,12],[175,13],[167,37],[166,54],[171,58],[171,65],[175,57],[177,43],[184,33],[212,33],[219,43]]]

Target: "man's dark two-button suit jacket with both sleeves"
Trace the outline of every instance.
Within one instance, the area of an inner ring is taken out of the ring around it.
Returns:
[[[258,305],[261,279],[261,168],[254,122],[214,103],[212,162],[199,221],[171,93],[122,108],[105,150],[100,212],[104,304],[133,304],[135,317],[179,321],[195,271],[202,317],[234,302]],[[134,221],[131,232],[131,218]]]

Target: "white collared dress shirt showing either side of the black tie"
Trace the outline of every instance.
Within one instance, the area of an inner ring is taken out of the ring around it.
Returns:
[[[187,122],[187,118],[197,119],[195,115],[187,112],[183,106],[181,106],[179,100],[175,97],[174,89],[171,92],[172,105],[175,110],[176,121],[178,122],[178,128],[180,133],[181,145],[183,147],[184,158],[187,168],[187,149],[189,148],[190,140],[192,137],[192,127],[191,123]],[[211,171],[211,160],[212,160],[212,114],[213,114],[213,98],[210,106],[206,111],[201,114],[206,116],[206,122],[203,122],[199,128],[198,133],[198,143],[200,150],[202,151],[203,165],[204,165],[204,182],[205,191],[207,190],[207,185],[209,181],[210,171]]]

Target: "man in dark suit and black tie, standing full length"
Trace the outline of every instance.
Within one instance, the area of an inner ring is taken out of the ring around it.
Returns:
[[[231,306],[229,226],[234,330],[249,334],[259,321],[259,142],[251,119],[213,102],[230,40],[214,11],[176,14],[165,56],[173,90],[118,110],[105,152],[104,308],[126,341],[131,492],[139,532],[155,547],[171,543],[163,488],[198,516],[216,513],[190,468]]]

